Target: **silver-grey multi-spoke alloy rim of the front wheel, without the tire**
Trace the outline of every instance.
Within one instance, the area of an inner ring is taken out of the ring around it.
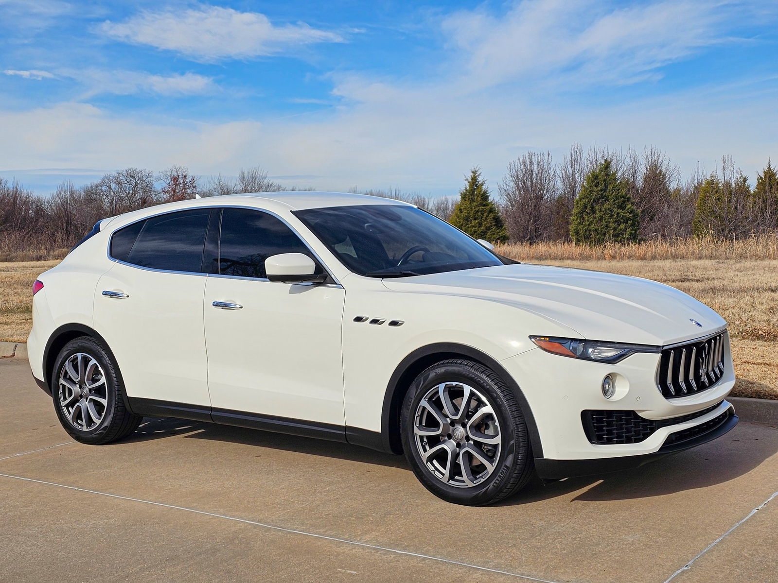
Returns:
[[[414,434],[427,469],[460,488],[489,478],[503,445],[494,407],[461,382],[442,382],[427,391],[416,408]]]

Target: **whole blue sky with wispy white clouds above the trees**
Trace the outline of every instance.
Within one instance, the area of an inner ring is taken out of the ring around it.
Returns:
[[[454,194],[527,150],[778,159],[778,2],[0,0],[0,177]]]

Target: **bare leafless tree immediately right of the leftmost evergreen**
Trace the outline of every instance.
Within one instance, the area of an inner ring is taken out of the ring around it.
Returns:
[[[510,162],[499,194],[511,240],[536,243],[551,237],[551,205],[558,195],[551,152],[527,152]]]

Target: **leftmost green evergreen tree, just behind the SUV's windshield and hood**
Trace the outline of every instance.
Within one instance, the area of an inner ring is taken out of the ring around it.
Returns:
[[[459,191],[459,202],[449,222],[475,239],[492,243],[508,240],[503,218],[489,198],[486,180],[482,180],[478,168],[470,171],[467,183]]]

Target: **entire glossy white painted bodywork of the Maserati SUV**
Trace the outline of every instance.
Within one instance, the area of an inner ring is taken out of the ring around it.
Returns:
[[[675,288],[531,264],[365,278],[351,273],[293,215],[296,209],[346,204],[404,203],[354,194],[234,195],[160,205],[103,222],[102,232],[40,275],[45,287],[33,299],[29,344],[33,374],[42,378],[51,333],[65,323],[82,323],[110,344],[130,395],[381,431],[384,395],[398,364],[430,344],[463,344],[499,361],[513,377],[531,407],[545,457],[555,459],[654,452],[670,431],[717,415],[663,428],[640,444],[592,445],[580,421],[584,409],[669,418],[710,407],[734,385],[728,340],[724,378],[712,389],[674,400],[657,389],[658,354],[605,365],[548,354],[529,340],[545,335],[661,346],[724,329],[716,312]],[[172,274],[107,257],[115,229],[160,212],[215,206],[278,216],[337,285]],[[129,298],[103,297],[103,289]],[[217,309],[212,302],[240,308]],[[355,316],[385,323],[357,323]],[[391,319],[404,323],[388,326]],[[612,400],[601,393],[607,374],[616,381]]]

